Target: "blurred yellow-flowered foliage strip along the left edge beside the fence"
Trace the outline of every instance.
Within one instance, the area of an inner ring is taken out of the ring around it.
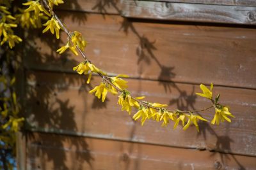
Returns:
[[[0,1],[0,169],[15,169],[16,132],[24,122],[17,99],[17,76],[22,59],[19,17],[22,1]]]

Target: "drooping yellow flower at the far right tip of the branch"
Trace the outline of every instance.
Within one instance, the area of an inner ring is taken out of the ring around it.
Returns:
[[[225,120],[227,120],[227,122],[231,122],[228,116],[235,118],[234,115],[232,115],[232,113],[228,111],[228,108],[226,106],[220,106],[220,108],[215,108],[215,115],[212,119],[211,124],[216,123],[217,125],[219,125],[220,121],[224,122]]]

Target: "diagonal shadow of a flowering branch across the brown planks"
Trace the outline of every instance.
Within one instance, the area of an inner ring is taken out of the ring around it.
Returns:
[[[109,8],[109,6],[112,6],[119,15],[122,15],[122,10],[118,8],[117,2],[113,0],[100,0],[93,9],[98,9],[100,13],[103,13],[103,17],[105,17],[104,13],[108,13],[106,7]],[[147,22],[147,19],[141,19],[140,21]],[[123,21],[120,23],[121,26],[119,31],[123,31],[126,35],[129,34],[129,32],[132,32],[132,34],[136,35],[136,37],[139,39],[138,46],[136,48],[136,55],[138,57],[137,64],[139,65],[144,62],[145,64],[150,65],[152,64],[152,62],[156,62],[157,66],[161,70],[159,76],[157,77],[157,80],[159,81],[159,84],[163,86],[164,91],[172,92],[172,90],[177,90],[179,92],[179,96],[176,99],[170,100],[170,106],[176,105],[177,109],[179,110],[196,110],[195,86],[193,86],[191,92],[188,92],[188,90],[180,89],[180,87],[173,81],[173,78],[175,78],[176,76],[175,67],[161,64],[161,62],[157,59],[158,57],[155,55],[155,52],[157,51],[156,39],[151,40],[150,38],[145,36],[145,34],[140,34],[140,32],[137,31],[136,27],[134,26],[134,22],[138,22],[138,20],[133,20],[132,18],[123,18]],[[200,114],[198,113],[198,115]],[[224,165],[225,159],[234,159],[239,166],[239,169],[245,169],[245,167],[241,165],[241,163],[236,159],[236,157],[234,157],[234,155],[220,153],[220,151],[224,151],[227,153],[231,152],[230,144],[234,143],[234,141],[228,136],[228,134],[223,136],[218,135],[217,132],[215,132],[214,129],[212,129],[211,125],[209,125],[209,123],[207,122],[199,122],[198,125],[200,127],[198,137],[203,136],[204,140],[206,141],[206,134],[211,134],[217,139],[214,148],[216,152],[213,152],[212,155],[220,154],[221,163]],[[132,129],[131,138],[134,134],[134,131],[135,130]],[[130,152],[132,152],[132,147]],[[127,160],[127,157],[124,157],[125,160]],[[129,169],[128,164],[129,161],[127,160],[126,169]]]

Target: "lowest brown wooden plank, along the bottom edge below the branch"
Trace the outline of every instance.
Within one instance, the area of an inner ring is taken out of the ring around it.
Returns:
[[[27,169],[255,169],[255,157],[54,134],[28,135]]]

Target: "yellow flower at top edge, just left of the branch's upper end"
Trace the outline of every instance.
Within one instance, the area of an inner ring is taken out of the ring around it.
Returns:
[[[38,18],[40,11],[43,11],[49,17],[51,16],[44,6],[42,6],[39,1],[28,1],[28,3],[23,3],[25,6],[29,6],[25,12],[35,11],[35,18]]]

